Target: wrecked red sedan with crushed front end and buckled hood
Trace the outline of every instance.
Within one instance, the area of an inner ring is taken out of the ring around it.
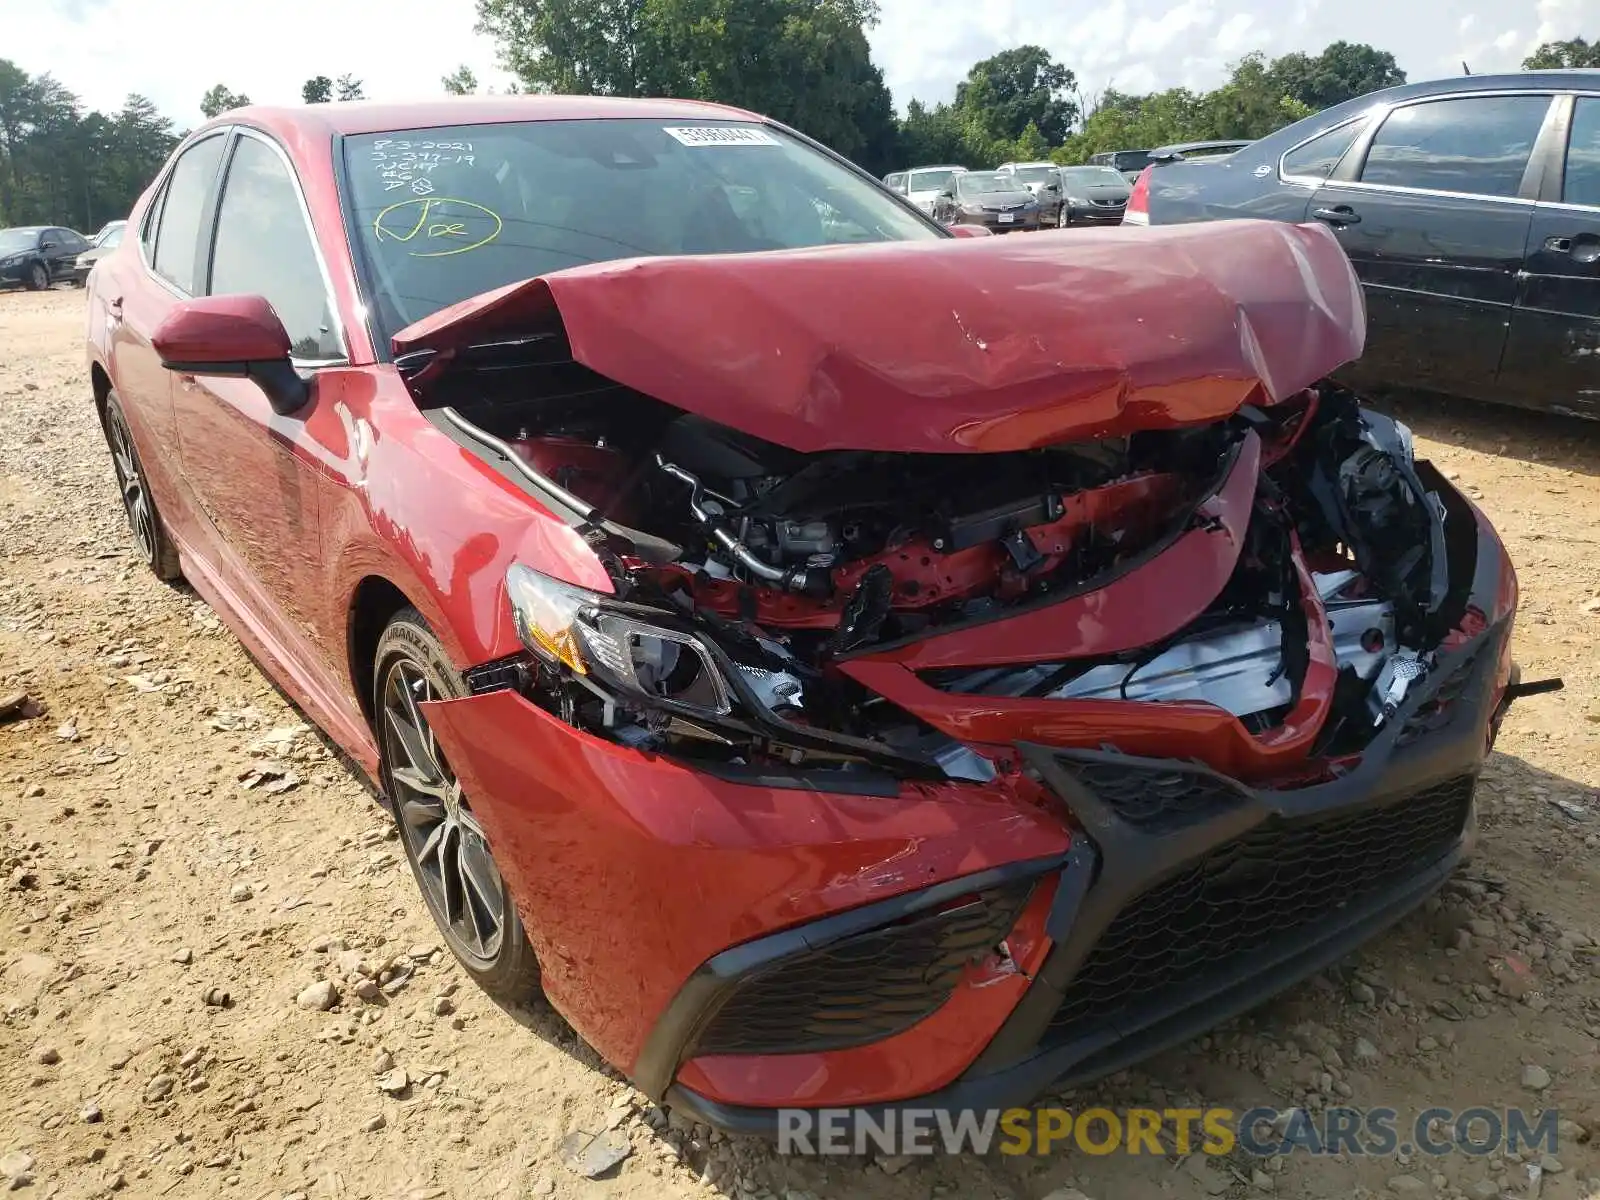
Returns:
[[[90,278],[136,541],[651,1096],[989,1107],[1467,851],[1512,566],[1328,230],[958,238],[672,101],[243,109]]]

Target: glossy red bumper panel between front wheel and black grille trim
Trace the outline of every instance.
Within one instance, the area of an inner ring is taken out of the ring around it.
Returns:
[[[424,710],[550,1002],[624,1066],[694,968],[730,946],[1070,845],[1059,819],[1005,787],[746,787],[592,738],[512,691]]]

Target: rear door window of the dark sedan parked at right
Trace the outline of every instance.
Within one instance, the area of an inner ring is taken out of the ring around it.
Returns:
[[[1549,107],[1549,96],[1458,96],[1398,107],[1373,138],[1362,182],[1514,197]]]

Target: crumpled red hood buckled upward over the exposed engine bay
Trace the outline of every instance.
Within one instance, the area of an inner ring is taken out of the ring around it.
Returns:
[[[1323,226],[1222,221],[598,262],[402,330],[560,320],[600,374],[792,450],[1008,451],[1218,421],[1362,354]]]

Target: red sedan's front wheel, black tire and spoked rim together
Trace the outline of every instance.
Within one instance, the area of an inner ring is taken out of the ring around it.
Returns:
[[[467,685],[414,608],[397,613],[378,638],[373,680],[379,781],[434,925],[478,987],[526,1005],[539,995],[539,962],[472,806],[416,707],[464,696]]]

